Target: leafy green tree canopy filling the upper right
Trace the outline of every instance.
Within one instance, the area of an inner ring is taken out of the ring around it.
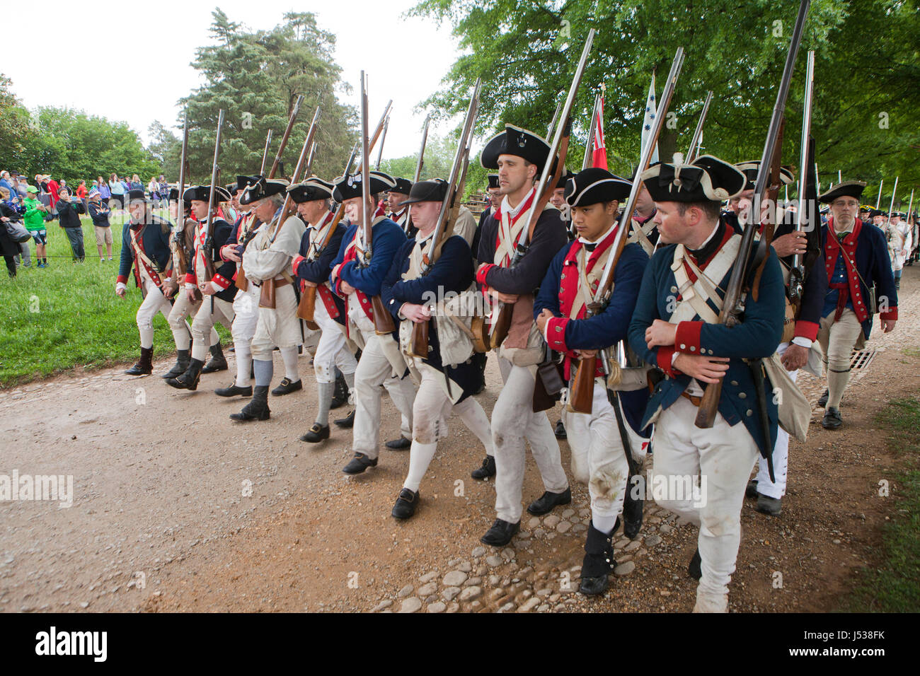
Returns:
[[[670,109],[673,116],[662,130],[661,158],[686,150],[707,89],[715,96],[705,151],[732,161],[759,158],[798,6],[793,0],[422,0],[410,14],[449,21],[461,47],[443,88],[423,105],[444,116],[460,112],[480,77],[484,96],[477,130],[482,133],[497,131],[506,120],[544,133],[559,91],[569,88],[588,30],[596,29],[573,109],[568,164],[581,166],[594,92],[604,82],[611,170],[628,175],[638,159],[650,74],[657,73],[661,93],[678,46],[684,47],[684,67]],[[812,127],[819,166],[840,166],[845,178],[871,180],[877,171],[873,165],[886,171],[898,167],[920,178],[920,120],[915,97],[907,95],[920,82],[912,41],[920,29],[917,17],[916,2],[907,0],[813,0],[786,110],[784,163],[799,161],[804,52],[813,49],[818,63]],[[882,39],[892,34],[903,36],[903,48]],[[853,73],[867,77],[855,83],[849,76]],[[876,82],[877,73],[881,77]],[[880,112],[874,105],[879,96],[886,106],[891,104],[886,109],[900,131],[887,133],[877,146],[881,130],[868,129],[868,123]],[[876,147],[882,148],[881,158]]]

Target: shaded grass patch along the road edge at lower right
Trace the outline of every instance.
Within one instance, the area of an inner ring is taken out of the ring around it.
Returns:
[[[843,602],[856,613],[916,613],[920,609],[920,462],[916,430],[920,429],[920,400],[896,399],[880,412],[877,422],[890,433],[889,444],[903,469],[891,481],[895,500],[885,524],[879,567],[864,567],[857,586]]]

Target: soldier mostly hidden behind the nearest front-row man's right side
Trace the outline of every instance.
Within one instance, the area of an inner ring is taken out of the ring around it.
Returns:
[[[735,165],[742,171],[746,183],[742,193],[730,200],[731,212],[739,216],[736,223],[741,224],[741,219],[750,220],[751,203],[753,201],[753,188],[760,169],[760,160],[742,162]],[[780,180],[788,185],[794,177],[785,168],[780,168]],[[804,205],[803,205],[804,208]],[[764,201],[762,205],[761,223],[769,211],[769,204]],[[729,218],[729,216],[726,216]],[[790,270],[796,254],[804,256],[808,245],[808,235],[796,230],[795,218],[791,212],[776,210],[776,229],[773,233],[772,245],[776,256],[782,266],[783,278],[786,281],[786,295],[789,296]],[[799,315],[795,318],[795,333],[791,339],[785,340],[776,348],[780,361],[789,372],[792,382],[799,375],[799,369],[809,362],[809,354],[814,341],[818,338],[818,324],[821,321],[821,309],[824,304],[824,295],[827,293],[827,272],[824,270],[824,261],[821,256],[814,259],[811,269],[807,270],[799,303]],[[815,375],[822,375],[820,367]],[[782,498],[786,495],[788,480],[789,434],[779,428],[776,432],[776,445],[773,447],[773,467],[776,481],[770,480],[770,469],[766,459],[762,456],[758,461],[756,478],[748,483],[747,496],[756,498],[757,511],[771,516],[779,516],[782,511]]]

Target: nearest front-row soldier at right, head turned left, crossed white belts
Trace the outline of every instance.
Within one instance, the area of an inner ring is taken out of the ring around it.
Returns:
[[[776,440],[777,409],[765,379],[758,391],[746,359],[771,356],[783,331],[783,277],[771,251],[759,287],[747,294],[742,321],[718,323],[731,269],[744,264],[738,235],[720,217],[722,201],[742,191],[745,177],[709,155],[689,165],[657,164],[641,175],[658,210],[661,245],[646,269],[629,343],[664,379],[643,423],[655,424],[654,474],[673,487],[661,507],[699,526],[689,574],[700,580],[694,612],[724,613],[741,543],[745,485],[758,451]],[[722,381],[711,429],[696,427],[704,387]],[[763,411],[769,429],[761,422]],[[766,435],[766,438],[765,438]],[[767,441],[769,440],[769,441]],[[703,497],[692,490],[699,476]],[[690,493],[690,495],[687,495]]]

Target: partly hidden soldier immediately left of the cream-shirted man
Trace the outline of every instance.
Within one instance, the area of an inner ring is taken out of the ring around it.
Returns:
[[[255,234],[262,223],[252,210],[252,205],[246,201],[246,189],[259,181],[258,176],[237,176],[234,187],[234,199],[239,205],[236,223],[233,232],[227,237],[226,244],[221,247],[221,259],[236,263],[234,282],[239,277],[239,264],[243,262],[243,252],[246,250],[252,235]],[[259,287],[248,284],[246,291],[239,290],[233,300],[234,320],[230,334],[233,337],[234,353],[236,354],[236,379],[226,387],[218,387],[214,394],[218,396],[252,396],[252,338],[256,335],[256,324],[259,321]]]

